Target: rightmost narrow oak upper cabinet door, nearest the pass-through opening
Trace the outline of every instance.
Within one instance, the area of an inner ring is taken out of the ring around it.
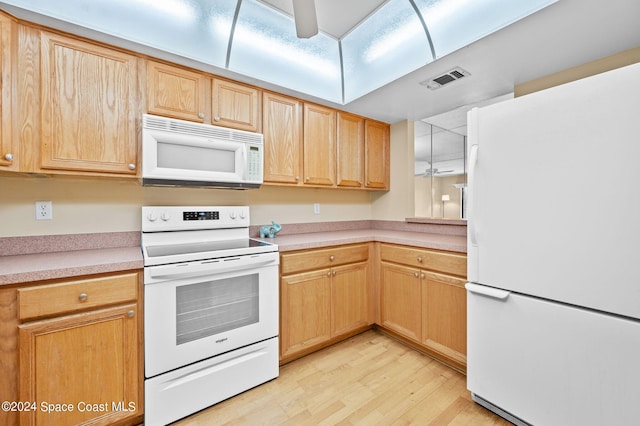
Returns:
[[[365,120],[365,185],[372,189],[389,189],[389,125]]]

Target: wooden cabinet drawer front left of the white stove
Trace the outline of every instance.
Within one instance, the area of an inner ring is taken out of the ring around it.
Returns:
[[[21,320],[136,300],[138,273],[18,289]]]

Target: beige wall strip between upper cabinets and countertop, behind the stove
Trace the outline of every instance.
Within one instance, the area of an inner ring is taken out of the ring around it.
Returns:
[[[366,191],[263,187],[258,190],[151,188],[137,182],[0,177],[0,237],[140,230],[143,205],[250,205],[262,225],[371,219]],[[53,202],[52,220],[35,220],[35,201]],[[320,204],[320,214],[313,213]]]

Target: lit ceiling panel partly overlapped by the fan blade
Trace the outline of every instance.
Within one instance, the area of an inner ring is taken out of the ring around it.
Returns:
[[[338,42],[323,33],[297,38],[291,17],[255,0],[242,1],[229,70],[342,102]]]

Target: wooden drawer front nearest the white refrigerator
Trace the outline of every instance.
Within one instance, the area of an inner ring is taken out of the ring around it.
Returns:
[[[464,254],[382,244],[380,258],[387,262],[467,276],[467,256]]]

